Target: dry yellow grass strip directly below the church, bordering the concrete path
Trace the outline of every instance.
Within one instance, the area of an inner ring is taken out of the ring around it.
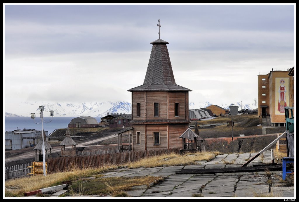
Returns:
[[[196,152],[190,154],[163,154],[154,157],[143,158],[137,162],[127,164],[129,168],[153,168],[160,166],[174,166],[174,165],[191,165],[195,161],[206,160],[210,161],[218,155],[219,152]]]

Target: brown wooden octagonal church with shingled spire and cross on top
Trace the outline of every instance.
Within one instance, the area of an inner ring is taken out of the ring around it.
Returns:
[[[160,21],[159,21],[160,24]],[[168,42],[160,39],[151,42],[147,72],[143,85],[131,88],[132,92],[132,149],[156,150],[179,147],[179,137],[188,129],[188,88],[179,86],[167,49]]]

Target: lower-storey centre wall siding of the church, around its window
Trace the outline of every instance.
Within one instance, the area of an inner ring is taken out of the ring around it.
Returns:
[[[154,145],[154,132],[160,132],[160,145]],[[146,133],[147,150],[167,149],[167,124],[148,124]]]

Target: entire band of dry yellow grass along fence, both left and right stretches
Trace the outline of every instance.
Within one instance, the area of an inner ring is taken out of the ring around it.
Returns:
[[[195,161],[207,160],[210,161],[218,155],[219,152],[197,152],[189,154],[164,154],[155,157],[141,159],[134,163],[129,163],[131,168],[137,167],[158,167],[162,165],[190,165],[195,164]],[[106,165],[100,168],[88,168],[79,170],[72,168],[68,172],[48,174],[46,177],[43,175],[34,175],[30,177],[21,177],[5,181],[5,197],[24,196],[25,192],[30,192],[50,186],[62,184],[63,181],[78,180],[82,177],[97,176],[103,172],[111,169],[118,168],[117,165]]]

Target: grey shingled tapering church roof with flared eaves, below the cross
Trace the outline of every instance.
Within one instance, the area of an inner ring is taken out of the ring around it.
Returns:
[[[176,84],[166,45],[169,43],[157,39],[150,44],[152,44],[152,52],[143,85],[128,91],[191,91]]]

